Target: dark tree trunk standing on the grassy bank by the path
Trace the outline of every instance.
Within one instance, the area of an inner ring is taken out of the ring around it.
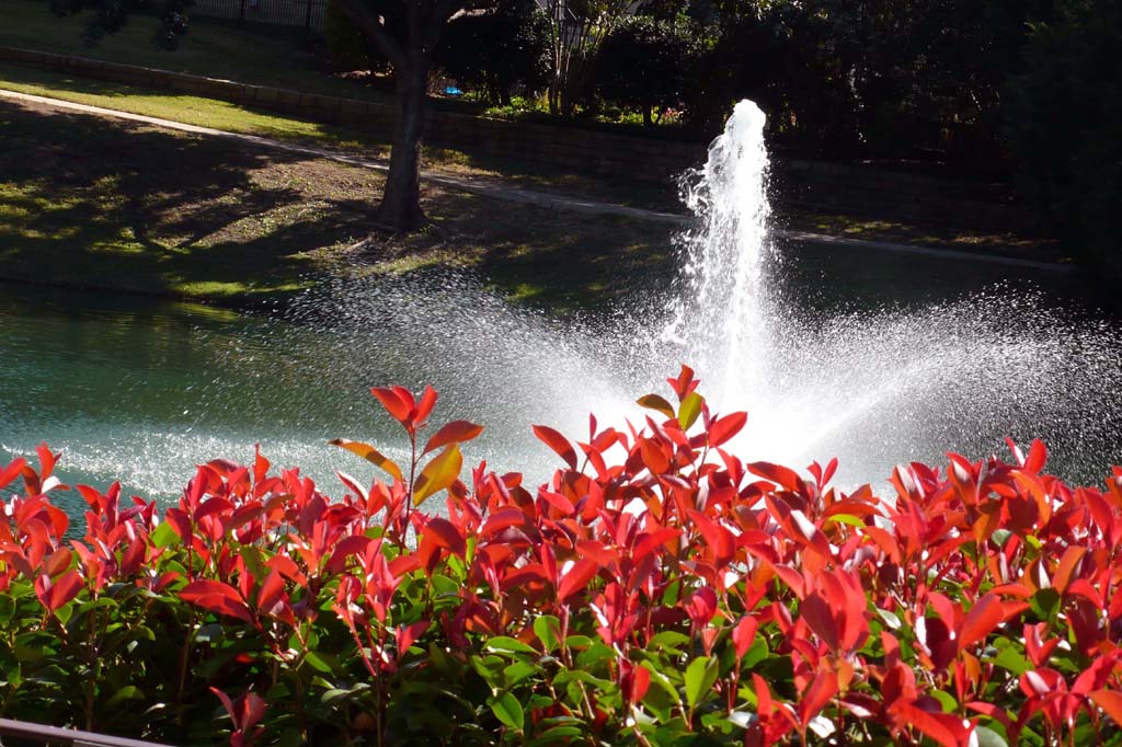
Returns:
[[[421,142],[429,93],[429,59],[423,54],[411,54],[410,64],[395,72],[399,105],[386,190],[376,218],[379,223],[398,231],[412,231],[425,223],[421,210]]]

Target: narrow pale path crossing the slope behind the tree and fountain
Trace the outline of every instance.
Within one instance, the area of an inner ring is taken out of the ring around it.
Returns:
[[[205,135],[210,137],[226,138],[228,140],[236,140],[238,142],[252,145],[260,148],[284,150],[287,153],[297,153],[305,156],[312,156],[313,158],[327,158],[329,160],[339,162],[341,164],[349,164],[351,166],[358,166],[360,168],[373,168],[379,172],[385,172],[389,169],[388,163],[383,159],[348,156],[346,154],[341,154],[334,150],[329,150],[325,148],[303,146],[294,142],[286,142],[284,140],[274,140],[272,138],[263,138],[256,135],[245,135],[241,132],[217,130],[211,127],[200,127],[197,125],[184,125],[183,122],[175,122],[169,119],[146,117],[144,114],[132,114],[130,112],[118,111],[116,109],[105,109],[103,107],[93,107],[91,104],[75,103],[73,101],[63,101],[61,99],[37,96],[30,93],[19,93],[16,91],[7,91],[0,89],[0,99],[27,101],[27,102],[44,104],[47,107],[53,107],[55,109],[66,109],[70,111],[77,111],[85,114],[96,114],[101,117],[112,117],[116,119],[123,119],[134,122],[142,122],[145,125],[153,125],[155,127],[162,127],[169,130],[178,130],[181,132],[193,132],[195,135]],[[628,205],[618,205],[607,202],[596,202],[594,200],[581,200],[579,197],[550,194],[548,192],[539,192],[535,190],[523,190],[521,187],[513,187],[509,186],[508,184],[504,184],[499,181],[494,181],[494,179],[450,176],[448,174],[441,174],[427,169],[422,170],[421,174],[425,181],[431,182],[433,184],[440,184],[441,186],[451,187],[453,190],[459,190],[461,192],[468,192],[470,194],[478,194],[487,197],[493,197],[495,200],[504,200],[507,202],[536,205],[550,210],[586,213],[592,215],[619,215],[622,218],[631,218],[643,221],[656,221],[673,225],[686,225],[691,220],[689,215],[682,215],[679,213],[666,213],[656,210],[644,210],[642,208],[632,208]],[[889,241],[870,241],[865,239],[853,239],[849,237],[811,233],[808,231],[780,230],[778,231],[778,233],[781,238],[787,239],[789,241],[837,247],[843,249],[873,249],[877,251],[890,251],[894,253],[916,255],[922,257],[936,257],[940,259],[966,260],[975,262],[990,262],[996,265],[1005,265],[1010,267],[1022,267],[1029,269],[1040,269],[1040,270],[1050,270],[1059,273],[1069,271],[1073,269],[1072,266],[1058,265],[1056,262],[1042,262],[1033,259],[1021,259],[1019,257],[1002,257],[1000,255],[975,253],[971,251],[959,251],[956,249],[944,249],[939,247],[923,247],[914,245],[893,243]]]

